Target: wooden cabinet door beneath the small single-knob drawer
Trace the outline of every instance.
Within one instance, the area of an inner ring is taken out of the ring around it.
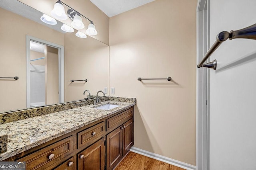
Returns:
[[[104,170],[105,146],[104,138],[78,154],[79,170]]]

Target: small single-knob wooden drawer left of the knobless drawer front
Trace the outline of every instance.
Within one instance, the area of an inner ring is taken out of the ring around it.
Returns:
[[[102,138],[106,132],[105,122],[101,122],[89,129],[85,129],[78,133],[78,149],[81,147],[87,147],[90,144],[96,142],[98,139]]]

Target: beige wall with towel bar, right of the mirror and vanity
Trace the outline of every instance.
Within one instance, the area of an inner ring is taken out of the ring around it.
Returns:
[[[137,98],[134,147],[196,165],[196,0],[110,18],[110,88]],[[142,78],[172,77],[167,80]]]

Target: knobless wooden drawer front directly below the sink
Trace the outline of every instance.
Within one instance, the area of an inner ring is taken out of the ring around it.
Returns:
[[[123,123],[131,119],[133,116],[133,109],[130,108],[118,115],[110,117],[107,119],[107,131],[114,130],[117,127],[121,126]]]

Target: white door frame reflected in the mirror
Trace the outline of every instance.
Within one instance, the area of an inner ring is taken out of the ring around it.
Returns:
[[[26,107],[30,107],[30,41],[58,49],[59,102],[64,102],[64,46],[26,35]]]

